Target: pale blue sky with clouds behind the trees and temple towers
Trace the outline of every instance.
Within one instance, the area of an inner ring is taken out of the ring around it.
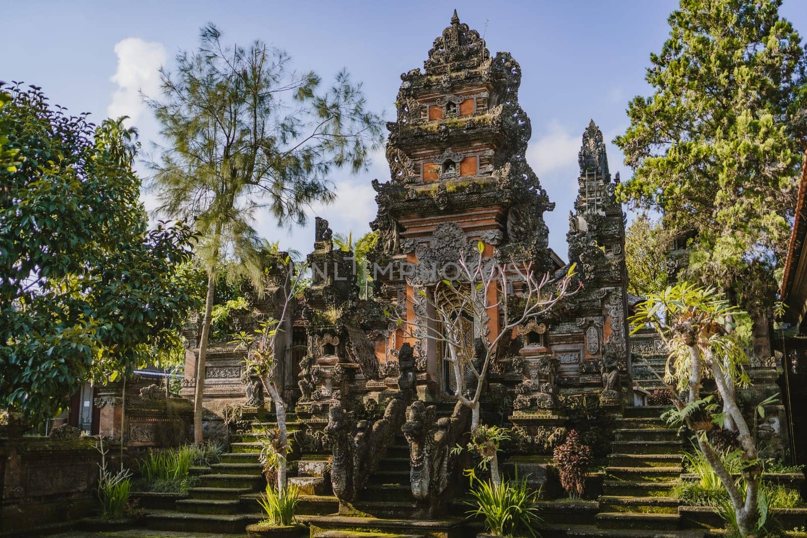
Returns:
[[[556,202],[546,214],[550,246],[567,257],[568,214],[577,190],[577,152],[589,119],[607,140],[625,130],[625,107],[650,94],[644,81],[650,52],[667,38],[672,0],[554,2],[17,2],[3,12],[0,80],[40,85],[54,103],[95,121],[127,114],[148,146],[157,125],[137,90],[155,92],[157,69],[198,44],[213,22],[225,42],[260,39],[284,48],[297,69],[328,81],[346,67],[363,81],[370,107],[394,116],[400,73],[422,67],[429,48],[458,8],[460,20],[483,34],[491,53],[509,51],[521,64],[521,106],[533,126],[528,160]],[[781,14],[807,35],[807,2],[784,0]],[[621,153],[608,147],[611,173],[630,176]],[[383,151],[366,173],[337,171],[339,198],[312,207],[334,231],[369,230],[374,218],[370,180],[389,178]],[[146,206],[151,206],[144,196]],[[312,219],[313,221],[313,219]],[[258,230],[284,248],[309,252],[313,230]]]

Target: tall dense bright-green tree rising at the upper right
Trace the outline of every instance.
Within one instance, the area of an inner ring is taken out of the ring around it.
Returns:
[[[801,152],[807,56],[780,0],[681,0],[650,55],[650,97],[614,144],[633,169],[623,200],[689,239],[682,277],[717,283],[767,330]],[[759,347],[759,346],[758,346]]]

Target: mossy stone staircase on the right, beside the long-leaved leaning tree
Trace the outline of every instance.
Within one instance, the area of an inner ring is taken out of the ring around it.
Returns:
[[[645,536],[679,528],[679,503],[671,490],[679,484],[682,442],[659,419],[663,409],[627,407],[624,417],[617,419],[597,528],[646,532]]]

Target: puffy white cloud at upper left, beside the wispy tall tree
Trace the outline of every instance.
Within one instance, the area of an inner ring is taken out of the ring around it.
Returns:
[[[118,56],[118,69],[110,80],[118,88],[112,92],[107,114],[111,118],[128,115],[127,123],[136,124],[145,111],[140,91],[155,96],[160,89],[159,69],[167,59],[165,47],[139,37],[128,37],[115,44],[115,55]]]

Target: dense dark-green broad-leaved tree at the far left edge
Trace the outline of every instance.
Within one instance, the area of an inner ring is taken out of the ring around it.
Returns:
[[[15,85],[0,109],[0,406],[31,421],[82,382],[114,381],[169,348],[192,307],[178,265],[191,231],[148,230],[136,131],[95,127]]]

